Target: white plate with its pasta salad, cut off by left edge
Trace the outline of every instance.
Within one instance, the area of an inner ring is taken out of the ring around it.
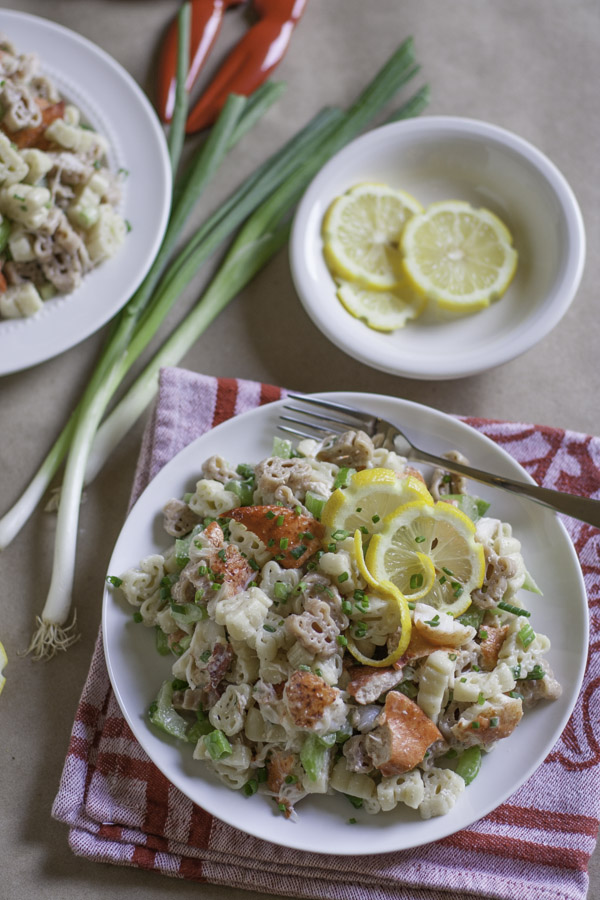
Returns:
[[[132,296],[162,240],[162,127],[81,35],[0,10],[0,375],[54,357]],[[149,189],[151,185],[151,189]]]

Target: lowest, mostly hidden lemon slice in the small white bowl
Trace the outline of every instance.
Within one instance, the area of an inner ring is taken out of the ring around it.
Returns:
[[[427,298],[417,293],[408,279],[394,291],[371,291],[351,281],[341,281],[338,300],[342,306],[374,331],[390,332],[403,328],[411,319],[420,316]]]

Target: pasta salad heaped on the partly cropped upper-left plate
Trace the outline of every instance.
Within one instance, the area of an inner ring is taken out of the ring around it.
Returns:
[[[33,316],[122,245],[108,142],[0,35],[0,319]]]

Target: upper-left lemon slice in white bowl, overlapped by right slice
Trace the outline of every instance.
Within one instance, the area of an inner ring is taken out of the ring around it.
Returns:
[[[418,200],[385,184],[357,184],[330,205],[323,219],[323,253],[336,275],[376,291],[402,281],[400,233]]]

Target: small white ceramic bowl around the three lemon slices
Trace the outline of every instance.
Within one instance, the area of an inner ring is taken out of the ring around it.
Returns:
[[[512,232],[519,254],[506,294],[464,316],[440,313],[430,304],[420,318],[391,334],[353,318],[336,297],[323,258],[321,224],[331,201],[364,181],[402,188],[423,206],[466,200],[495,212]],[[556,166],[509,131],[451,116],[395,122],[348,144],[306,190],[290,243],[298,295],[329,340],[384,372],[438,380],[498,366],[545,337],[573,300],[584,260],[581,212]]]

